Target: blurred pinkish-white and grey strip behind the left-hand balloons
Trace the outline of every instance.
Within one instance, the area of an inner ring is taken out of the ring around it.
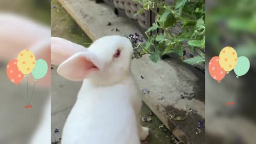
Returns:
[[[50,98],[50,75],[38,79],[31,100],[32,108],[25,108],[26,103],[22,100],[18,86],[6,75],[6,66],[25,49],[33,51],[36,59],[50,60],[49,45],[46,46],[47,51],[37,50],[42,48],[39,43],[50,42],[51,1],[0,0],[0,23],[0,143],[27,144],[44,119],[43,109],[47,98]],[[49,61],[48,65],[50,66]],[[31,94],[34,80],[31,74],[28,78],[28,90]],[[19,86],[23,95],[27,95],[25,77]],[[50,117],[50,111],[48,115]],[[50,133],[49,131],[49,134],[42,137],[49,137],[50,140]]]

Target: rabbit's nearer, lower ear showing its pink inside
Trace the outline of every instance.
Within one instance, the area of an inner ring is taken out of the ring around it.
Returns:
[[[92,57],[93,62],[91,61]],[[59,75],[70,81],[83,81],[90,74],[99,70],[94,64],[98,61],[95,60],[97,60],[97,57],[89,51],[76,53],[61,63],[57,71]]]

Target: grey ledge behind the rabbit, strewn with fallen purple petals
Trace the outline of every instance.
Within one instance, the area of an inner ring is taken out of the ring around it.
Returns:
[[[139,33],[137,26],[126,18],[116,17],[113,9],[105,3],[96,4],[91,0],[59,2],[93,41],[107,35]],[[111,25],[107,26],[107,22]],[[204,129],[196,134],[197,122],[205,119],[204,74],[179,60],[160,60],[155,64],[148,57],[145,55],[132,61],[132,73],[139,88],[150,91],[142,96],[142,100],[179,140],[184,143],[204,143]],[[197,110],[197,113],[190,114],[184,121],[174,121],[167,115],[168,111],[173,110],[176,116],[183,117],[186,112],[181,109],[184,107]]]

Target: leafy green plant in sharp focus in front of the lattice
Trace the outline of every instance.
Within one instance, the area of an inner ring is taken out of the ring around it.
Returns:
[[[167,5],[159,0],[135,0],[143,7],[137,14],[151,10],[156,14],[156,22],[146,31],[147,42],[140,44],[142,54],[150,54],[149,58],[157,62],[163,55],[176,53],[183,60],[183,52],[190,47],[192,51],[199,50],[196,57],[184,60],[191,65],[204,63],[205,53],[205,10],[204,0],[176,0]],[[171,29],[181,23],[181,33],[174,35]],[[163,34],[149,36],[151,31],[163,29]],[[185,46],[182,42],[187,41]]]

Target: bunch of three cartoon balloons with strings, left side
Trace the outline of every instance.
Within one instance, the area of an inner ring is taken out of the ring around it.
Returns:
[[[17,60],[11,60],[6,66],[6,74],[10,81],[19,87],[20,94],[23,101],[26,103],[25,108],[32,108],[31,99],[33,98],[35,85],[37,79],[43,78],[48,71],[48,65],[45,60],[36,60],[35,55],[30,50],[23,50],[19,53]],[[28,75],[32,73],[34,76],[34,87],[31,94],[29,95],[28,90]],[[26,77],[27,79],[27,99],[23,96],[20,89],[20,82]]]

